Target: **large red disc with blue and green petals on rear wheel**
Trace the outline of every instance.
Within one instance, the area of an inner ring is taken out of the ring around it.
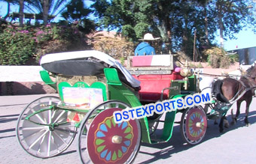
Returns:
[[[113,112],[107,109],[90,124],[87,133],[87,148],[93,163],[126,163],[135,151],[139,130],[135,120],[114,122]]]

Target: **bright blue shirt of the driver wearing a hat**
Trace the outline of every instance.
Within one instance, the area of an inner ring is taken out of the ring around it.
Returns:
[[[135,49],[135,55],[155,55],[154,47],[147,42],[139,43]]]

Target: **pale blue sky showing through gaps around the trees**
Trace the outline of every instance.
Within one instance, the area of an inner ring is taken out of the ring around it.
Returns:
[[[5,16],[7,4],[5,2],[0,2],[0,16]],[[11,12],[18,12],[19,7],[11,7]],[[60,19],[58,16],[56,19]],[[53,21],[57,21],[54,19]],[[216,34],[216,43],[219,43],[218,34]],[[227,39],[224,41],[224,49],[226,51],[243,49],[252,46],[256,46],[256,34],[250,28],[243,28],[238,34],[235,34],[237,39]]]

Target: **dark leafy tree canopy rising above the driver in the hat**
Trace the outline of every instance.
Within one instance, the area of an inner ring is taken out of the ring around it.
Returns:
[[[115,29],[136,41],[145,32],[161,36],[169,50],[193,54],[194,31],[197,46],[211,45],[220,30],[233,38],[245,24],[255,26],[248,1],[239,0],[93,0],[93,10],[102,28]]]

